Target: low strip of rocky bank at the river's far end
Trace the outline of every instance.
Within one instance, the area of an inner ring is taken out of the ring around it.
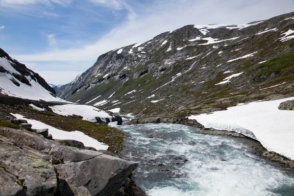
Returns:
[[[138,118],[132,119],[131,121],[124,123],[128,124],[145,124],[145,123],[172,123],[172,124],[183,124],[187,126],[194,126],[198,128],[203,128],[203,125],[198,123],[196,120],[191,120],[185,117],[148,117],[148,118]]]

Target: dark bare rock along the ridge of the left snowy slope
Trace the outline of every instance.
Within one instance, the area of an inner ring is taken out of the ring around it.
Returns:
[[[21,82],[31,85],[28,79],[25,76],[30,76],[33,80],[38,82],[41,86],[43,86],[46,90],[50,91],[51,93],[55,94],[55,90],[50,87],[47,82],[38,74],[33,72],[32,70],[25,67],[24,64],[19,63],[17,60],[11,58],[3,49],[0,49],[0,57],[6,58],[11,62],[11,66],[21,74],[13,73],[13,76],[20,80]],[[8,72],[3,67],[0,68],[0,72]]]

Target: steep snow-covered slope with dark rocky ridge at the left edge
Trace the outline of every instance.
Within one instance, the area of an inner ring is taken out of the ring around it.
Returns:
[[[0,93],[32,100],[65,101],[55,96],[55,90],[38,74],[11,58],[0,49]]]

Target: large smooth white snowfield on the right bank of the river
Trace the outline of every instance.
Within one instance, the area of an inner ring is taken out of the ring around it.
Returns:
[[[294,111],[278,109],[281,102],[292,99],[251,102],[189,119],[205,127],[242,133],[257,139],[269,151],[294,160]]]

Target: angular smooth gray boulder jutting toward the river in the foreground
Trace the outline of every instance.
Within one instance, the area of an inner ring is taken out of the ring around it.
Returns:
[[[105,154],[77,163],[55,166],[59,179],[74,187],[74,194],[81,188],[86,188],[93,196],[114,195],[136,167],[137,164]]]

